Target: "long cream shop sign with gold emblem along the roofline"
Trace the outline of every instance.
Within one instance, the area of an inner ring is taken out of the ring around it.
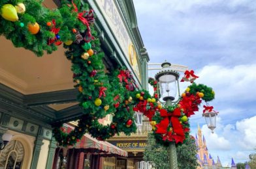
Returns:
[[[103,14],[106,22],[108,23],[110,29],[112,30],[116,40],[121,47],[125,57],[129,60],[133,70],[140,79],[140,71],[138,68],[138,60],[136,55],[136,50],[131,42],[131,38],[127,32],[123,19],[118,12],[116,3],[113,0],[95,0],[99,6],[101,13]]]

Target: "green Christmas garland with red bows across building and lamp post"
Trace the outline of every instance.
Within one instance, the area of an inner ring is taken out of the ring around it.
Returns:
[[[211,88],[193,83],[177,105],[163,108],[154,79],[149,80],[154,90],[150,96],[147,90],[138,90],[129,70],[104,73],[104,53],[93,26],[93,10],[80,0],[63,0],[57,10],[42,6],[42,0],[2,0],[0,8],[0,34],[15,47],[29,49],[38,57],[56,51],[57,45],[63,44],[67,49],[65,55],[72,62],[74,87],[79,90],[77,99],[83,115],[70,133],[62,124],[54,128],[59,146],[74,145],[84,133],[99,140],[120,132],[129,135],[136,131],[135,111],[148,116],[155,138],[163,144],[183,142],[189,131],[187,118],[198,110],[200,99],[214,98]],[[188,72],[186,78],[189,77]],[[112,122],[99,123],[108,114],[112,114]]]

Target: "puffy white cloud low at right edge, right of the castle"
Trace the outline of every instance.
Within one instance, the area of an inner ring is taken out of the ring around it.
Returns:
[[[245,149],[256,148],[256,116],[236,122],[239,144]]]

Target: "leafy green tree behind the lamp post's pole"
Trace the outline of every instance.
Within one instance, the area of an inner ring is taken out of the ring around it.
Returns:
[[[167,147],[155,142],[152,134],[148,135],[147,147],[144,151],[144,160],[150,162],[155,168],[168,168]],[[187,138],[182,146],[177,147],[178,168],[197,168],[197,146],[193,138]]]

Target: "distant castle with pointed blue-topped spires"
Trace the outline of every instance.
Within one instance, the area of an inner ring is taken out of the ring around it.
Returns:
[[[214,159],[212,159],[211,154],[208,152],[206,140],[204,136],[202,136],[202,131],[199,125],[197,132],[198,133],[195,135],[195,144],[197,145],[197,160],[199,163],[197,169],[221,169],[222,164],[221,161],[219,160],[219,157],[217,157],[217,161],[215,162]]]

